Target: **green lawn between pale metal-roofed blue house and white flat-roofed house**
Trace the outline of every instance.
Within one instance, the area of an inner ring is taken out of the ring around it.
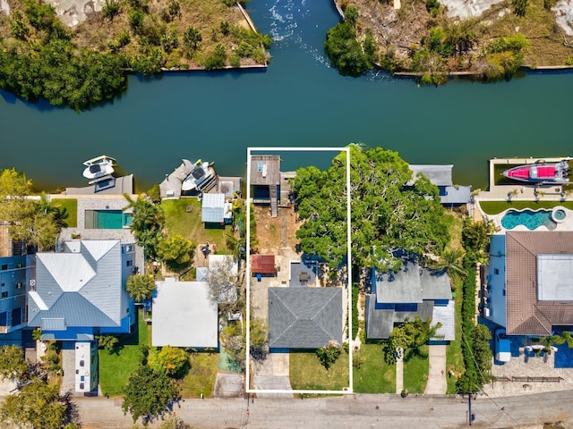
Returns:
[[[139,365],[139,345],[151,346],[150,331],[151,326],[145,323],[143,312],[138,309],[138,327],[121,337],[119,353],[110,355],[107,350],[99,350],[99,387],[105,395],[121,394],[129,375]]]

